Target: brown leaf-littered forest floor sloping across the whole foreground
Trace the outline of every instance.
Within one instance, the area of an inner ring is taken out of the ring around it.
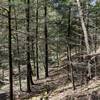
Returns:
[[[100,79],[91,80],[88,85],[77,85],[76,90],[73,90],[72,83],[67,81],[66,67],[54,67],[49,68],[49,78],[34,80],[35,85],[31,87],[32,92],[26,93],[25,81],[22,81],[23,92],[19,92],[18,86],[14,84],[15,100],[92,100],[89,99],[91,95],[99,97],[100,95]],[[5,93],[9,92],[9,84],[4,85],[1,88],[0,100],[6,100],[2,97]],[[1,99],[2,98],[2,99]],[[19,99],[20,98],[20,99]],[[74,98],[74,99],[72,99]],[[93,99],[94,100],[94,99]],[[100,100],[95,99],[95,100]]]

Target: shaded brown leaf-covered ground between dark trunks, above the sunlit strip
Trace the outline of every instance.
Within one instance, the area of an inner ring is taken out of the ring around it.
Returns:
[[[62,74],[63,73],[63,74]],[[35,80],[35,85],[32,86],[32,93],[26,96],[23,93],[22,98],[29,98],[32,96],[45,95],[45,93],[51,95],[58,87],[64,86],[67,83],[66,67],[50,68],[49,78]],[[72,88],[72,87],[70,87]]]

